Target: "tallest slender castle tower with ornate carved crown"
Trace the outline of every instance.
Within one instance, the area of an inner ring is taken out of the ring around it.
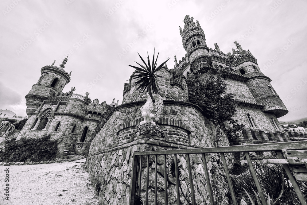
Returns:
[[[182,45],[187,51],[191,69],[197,71],[200,68],[210,66],[211,57],[209,55],[209,48],[206,44],[204,31],[200,27],[199,22],[196,20],[195,24],[193,17],[189,15],[186,15],[183,21],[185,27],[182,30],[179,26],[179,29],[182,37]]]

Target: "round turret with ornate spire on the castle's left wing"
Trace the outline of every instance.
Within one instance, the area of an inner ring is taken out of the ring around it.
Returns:
[[[70,75],[64,70],[68,56],[63,60],[60,66],[54,66],[55,61],[51,65],[41,68],[41,77],[29,91],[26,99],[26,112],[28,118],[36,114],[36,110],[48,95],[61,93],[64,86],[69,83]]]

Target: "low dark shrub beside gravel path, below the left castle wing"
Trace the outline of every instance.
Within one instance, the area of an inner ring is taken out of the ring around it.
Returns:
[[[58,142],[51,140],[50,135],[41,138],[11,139],[9,142],[9,161],[48,161],[57,153]],[[0,151],[0,161],[4,161],[4,151]]]

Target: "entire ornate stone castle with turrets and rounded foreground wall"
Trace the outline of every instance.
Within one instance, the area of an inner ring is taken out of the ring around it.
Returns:
[[[74,87],[68,93],[62,90],[70,81],[70,74],[64,68],[67,58],[57,67],[54,63],[41,68],[41,76],[33,85],[26,98],[28,122],[20,137],[41,137],[50,134],[59,140],[59,149],[74,149],[87,155],[87,169],[94,184],[101,184],[99,200],[103,204],[127,204],[129,194],[131,156],[134,151],[152,151],[165,149],[187,149],[196,147],[214,147],[228,145],[258,144],[302,140],[306,133],[285,133],[277,118],[288,113],[286,106],[265,76],[256,58],[249,50],[244,50],[235,41],[238,50],[235,55],[234,69],[227,78],[227,92],[233,93],[239,100],[235,119],[246,126],[242,136],[229,140],[225,129],[229,124],[218,126],[210,122],[199,106],[189,103],[185,79],[191,72],[226,66],[231,53],[223,53],[217,44],[215,49],[206,44],[205,34],[199,22],[188,15],[184,19],[184,28],[180,28],[182,44],[186,54],[175,66],[166,66],[158,71],[159,95],[164,100],[161,118],[156,122],[165,135],[142,133],[138,124],[142,121],[140,107],[145,103],[142,94],[136,90],[134,82],[124,84],[122,104],[99,100],[91,101],[86,96],[75,94]],[[175,76],[173,71],[182,75]],[[61,151],[61,150],[60,150]],[[262,153],[255,153],[261,156]],[[239,157],[240,156],[235,156]],[[184,159],[182,159],[184,160]],[[201,164],[192,160],[194,168]],[[218,159],[211,157],[212,168],[220,168]],[[231,161],[231,160],[230,160]],[[195,168],[197,171],[197,168]],[[196,172],[195,171],[195,172]],[[143,172],[145,173],[145,171]],[[151,172],[152,173],[152,172]],[[223,183],[223,177],[216,177]],[[196,184],[202,183],[198,179]],[[171,187],[173,185],[169,185]],[[221,185],[221,190],[227,190]],[[199,185],[199,187],[204,187]],[[143,188],[142,188],[143,189]],[[205,189],[205,188],[204,188]],[[173,189],[170,189],[170,194]],[[216,193],[216,197],[225,193]],[[200,188],[200,198],[206,200],[205,191]],[[200,204],[200,203],[199,203]]]

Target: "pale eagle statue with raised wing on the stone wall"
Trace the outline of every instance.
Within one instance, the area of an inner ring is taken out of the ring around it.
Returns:
[[[146,98],[146,103],[141,107],[141,113],[144,120],[140,123],[140,125],[148,122],[155,125],[155,122],[158,121],[161,116],[163,100],[160,95],[153,94],[153,99],[155,99],[155,103],[153,103],[148,93],[144,93],[142,98]]]

